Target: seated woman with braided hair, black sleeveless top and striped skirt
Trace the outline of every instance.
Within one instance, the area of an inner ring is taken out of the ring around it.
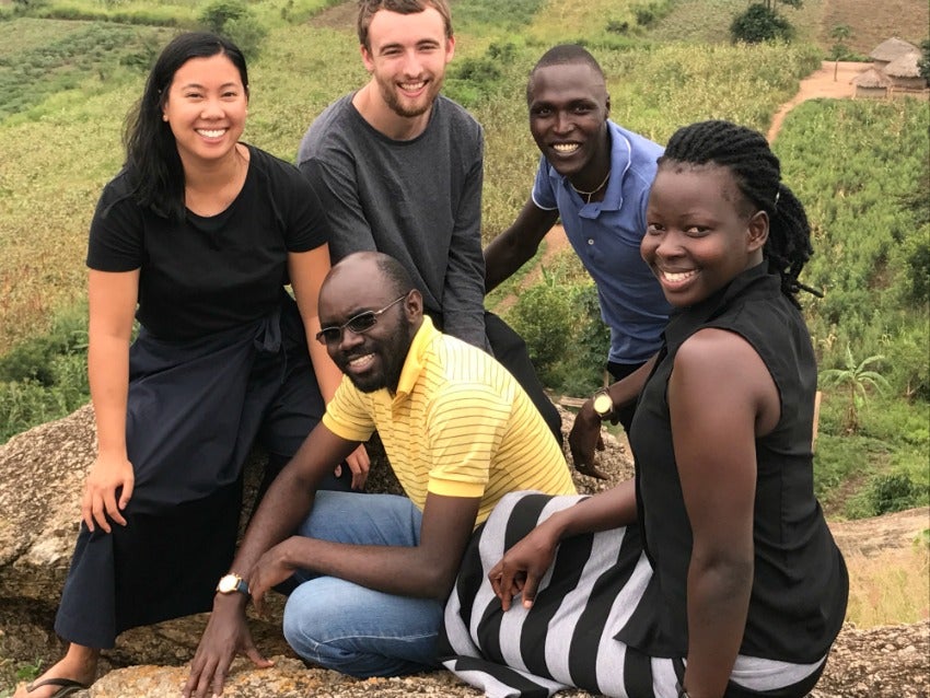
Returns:
[[[445,665],[495,698],[805,696],[842,624],[846,567],[813,490],[804,209],[760,133],[706,121],[669,141],[647,222],[675,313],[648,377],[608,391],[639,396],[635,480],[502,500],[446,606]],[[579,414],[577,461],[600,429]]]

